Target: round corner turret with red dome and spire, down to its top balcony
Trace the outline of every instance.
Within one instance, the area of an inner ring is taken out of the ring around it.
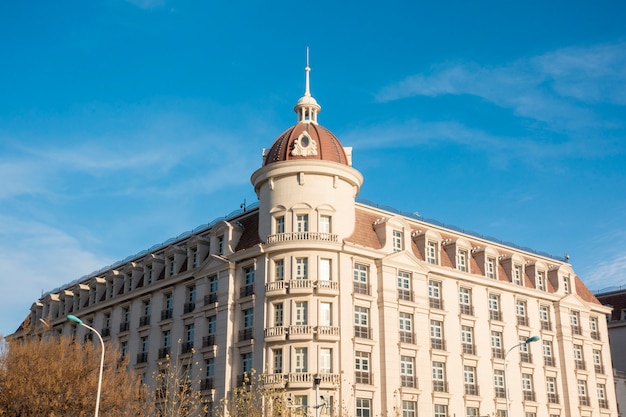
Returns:
[[[308,60],[307,60],[308,61]],[[341,242],[354,228],[354,200],[363,176],[352,168],[351,148],[320,126],[321,106],[311,96],[308,62],[305,90],[294,107],[297,123],[264,154],[251,182],[259,198],[259,236],[276,239]],[[302,235],[303,236],[303,235]]]

